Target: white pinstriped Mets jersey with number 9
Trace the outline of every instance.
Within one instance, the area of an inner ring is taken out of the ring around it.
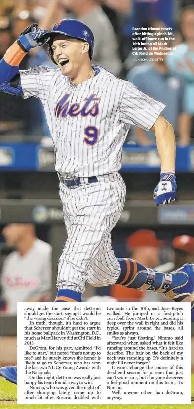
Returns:
[[[101,67],[77,86],[60,68],[20,70],[23,97],[44,106],[56,151],[55,170],[70,176],[118,171],[130,125],[149,130],[165,104]]]

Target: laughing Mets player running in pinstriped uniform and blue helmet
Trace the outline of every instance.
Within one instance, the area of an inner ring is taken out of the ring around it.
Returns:
[[[19,70],[34,47],[48,45],[56,68]],[[27,27],[1,60],[1,90],[44,106],[53,138],[68,238],[59,258],[56,302],[80,302],[88,281],[93,286],[119,284],[162,292],[175,301],[192,301],[193,265],[157,273],[132,259],[116,259],[111,230],[125,200],[118,173],[122,145],[131,125],[155,133],[161,177],[156,206],[175,200],[175,137],[160,114],[165,105],[131,82],[91,65],[94,36],[78,20],[58,21],[51,32]],[[17,368],[1,371],[17,383]]]

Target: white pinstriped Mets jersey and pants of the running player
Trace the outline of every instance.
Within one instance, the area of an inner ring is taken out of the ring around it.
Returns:
[[[59,258],[57,288],[83,292],[114,284],[120,265],[111,247],[111,230],[125,200],[118,170],[131,125],[150,129],[165,105],[101,67],[77,86],[58,68],[20,71],[24,98],[43,103],[56,151],[57,172],[68,177],[98,177],[69,188],[60,183],[68,238]]]

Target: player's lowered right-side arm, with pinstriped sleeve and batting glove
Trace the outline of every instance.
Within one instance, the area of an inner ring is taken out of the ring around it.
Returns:
[[[161,162],[161,178],[153,195],[156,206],[171,203],[176,194],[175,136],[172,125],[160,115],[165,106],[128,82],[119,110],[123,122],[155,132]]]

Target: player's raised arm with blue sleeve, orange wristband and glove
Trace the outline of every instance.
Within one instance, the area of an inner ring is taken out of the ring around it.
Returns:
[[[44,45],[47,39],[42,36],[48,30],[40,30],[38,24],[27,27],[0,61],[0,89],[12,95],[22,95],[19,64],[31,48]]]

